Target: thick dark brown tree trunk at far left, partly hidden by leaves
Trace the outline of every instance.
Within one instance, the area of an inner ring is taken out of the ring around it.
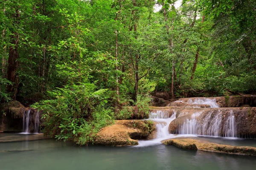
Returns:
[[[20,11],[16,10],[15,14],[13,14],[13,18],[17,20],[20,17]],[[16,22],[18,24],[18,22]],[[8,92],[13,93],[12,99],[16,99],[17,95],[17,87],[18,87],[18,76],[17,76],[17,69],[18,69],[18,61],[19,53],[18,53],[18,42],[19,36],[17,32],[12,32],[11,36],[11,43],[12,46],[9,47],[9,58],[8,58],[8,68],[7,68],[7,79],[12,82],[12,85],[9,85],[7,88]]]

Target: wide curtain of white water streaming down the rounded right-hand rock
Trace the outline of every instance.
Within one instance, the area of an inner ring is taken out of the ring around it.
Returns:
[[[180,125],[178,133],[179,134],[194,134],[194,135],[204,135],[204,136],[222,136],[221,134],[221,124],[222,121],[222,111],[218,110],[214,114],[214,111],[207,113],[203,117],[201,113],[194,113],[191,119],[186,119],[186,121]],[[198,119],[200,118],[200,119]],[[200,121],[201,120],[201,121]],[[233,111],[230,111],[227,119],[224,122],[223,136],[225,137],[237,137],[236,134],[236,119],[233,115]]]

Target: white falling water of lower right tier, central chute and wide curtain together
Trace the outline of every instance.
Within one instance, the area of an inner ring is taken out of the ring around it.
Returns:
[[[176,111],[173,111],[171,117],[167,111],[151,111],[149,119],[156,122],[156,139],[152,140],[140,140],[139,145],[135,147],[145,147],[150,145],[161,144],[161,141],[166,139],[174,139],[180,137],[198,137],[198,136],[221,136],[221,123],[222,123],[222,112],[218,110],[216,114],[209,112],[205,117],[204,121],[198,121],[198,117],[201,116],[202,112],[196,112],[192,114],[191,119],[186,121],[179,127],[178,134],[170,134],[168,127],[169,124],[176,119]],[[180,114],[179,116],[182,116]],[[227,139],[236,139],[236,120],[233,115],[233,111],[230,111],[229,116],[224,124],[223,128],[224,137]]]

